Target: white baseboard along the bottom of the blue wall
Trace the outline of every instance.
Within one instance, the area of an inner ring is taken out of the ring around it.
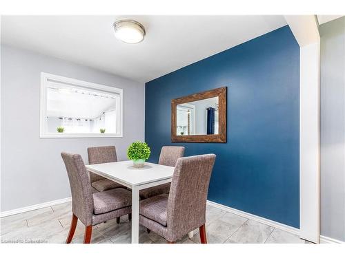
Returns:
[[[235,208],[231,208],[231,207],[225,206],[223,204],[217,204],[217,202],[207,201],[207,204],[210,205],[210,206],[213,206],[215,208],[220,208],[223,211],[227,211],[229,213],[234,213],[236,215],[239,215],[239,216],[242,216],[242,217],[246,217],[247,219],[253,219],[256,222],[260,222],[260,223],[266,224],[268,226],[273,226],[275,228],[279,228],[279,229],[288,231],[288,232],[293,233],[295,235],[299,235],[299,229],[298,228],[294,228],[293,226],[288,226],[288,225],[285,225],[285,224],[282,224],[282,223],[279,223],[279,222],[275,222],[275,221],[270,220],[270,219],[265,219],[264,217],[259,217],[257,215],[246,213],[244,211],[239,211],[239,210],[237,210]]]

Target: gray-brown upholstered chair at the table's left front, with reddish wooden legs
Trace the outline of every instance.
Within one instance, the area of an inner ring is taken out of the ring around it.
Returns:
[[[83,242],[90,243],[92,226],[131,212],[132,194],[123,188],[92,193],[88,171],[81,155],[61,153],[72,193],[72,222],[66,244],[72,241],[78,219],[85,225]]]

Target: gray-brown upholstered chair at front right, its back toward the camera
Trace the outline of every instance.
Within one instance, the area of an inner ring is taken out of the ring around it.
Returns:
[[[199,228],[206,244],[206,200],[215,154],[196,155],[177,160],[169,194],[140,201],[141,225],[175,243]]]

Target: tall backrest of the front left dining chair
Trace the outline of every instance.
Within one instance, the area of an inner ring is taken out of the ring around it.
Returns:
[[[61,157],[65,162],[68,179],[70,180],[70,191],[72,193],[72,212],[80,219],[85,226],[92,224],[93,195],[81,155],[62,152]]]

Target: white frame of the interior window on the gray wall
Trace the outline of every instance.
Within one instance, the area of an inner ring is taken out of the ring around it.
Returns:
[[[57,80],[61,83],[75,85],[75,87],[81,87],[86,89],[95,89],[103,92],[110,92],[119,95],[119,133],[49,133],[47,130],[47,82],[48,80]],[[39,138],[123,138],[124,131],[124,90],[117,87],[110,87],[106,85],[100,85],[97,83],[89,83],[84,80],[77,80],[74,78],[68,78],[55,74],[48,74],[41,72],[41,98],[40,98],[40,116],[39,116]]]

